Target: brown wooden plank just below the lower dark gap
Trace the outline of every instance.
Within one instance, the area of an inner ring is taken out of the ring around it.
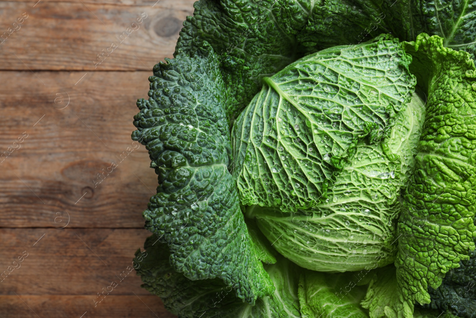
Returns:
[[[150,295],[132,264],[148,236],[145,229],[2,228],[0,294]]]

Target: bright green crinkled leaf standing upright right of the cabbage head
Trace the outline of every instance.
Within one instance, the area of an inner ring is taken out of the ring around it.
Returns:
[[[415,170],[398,220],[398,291],[406,317],[430,302],[428,287],[475,248],[476,68],[469,53],[420,34],[406,43],[411,70],[427,89],[426,119]]]

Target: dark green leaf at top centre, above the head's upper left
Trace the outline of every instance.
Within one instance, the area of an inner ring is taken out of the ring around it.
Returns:
[[[201,41],[220,55],[228,92],[227,114],[234,118],[271,76],[298,56],[296,33],[307,22],[313,1],[200,0],[187,17],[175,54],[193,54]]]

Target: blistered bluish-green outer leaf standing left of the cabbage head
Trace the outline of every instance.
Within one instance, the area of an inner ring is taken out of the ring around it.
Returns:
[[[194,57],[154,67],[149,100],[132,133],[159,175],[145,227],[170,248],[173,268],[190,279],[220,277],[254,304],[273,285],[258,260],[228,172],[230,141],[218,58],[206,44]]]

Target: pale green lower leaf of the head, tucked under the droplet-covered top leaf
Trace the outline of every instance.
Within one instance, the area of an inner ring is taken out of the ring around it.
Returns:
[[[393,262],[399,191],[413,168],[424,110],[415,95],[397,115],[387,140],[397,160],[387,157],[382,144],[362,142],[327,189],[325,201],[291,214],[255,205],[248,216],[256,217],[279,253],[301,267],[343,272]]]

